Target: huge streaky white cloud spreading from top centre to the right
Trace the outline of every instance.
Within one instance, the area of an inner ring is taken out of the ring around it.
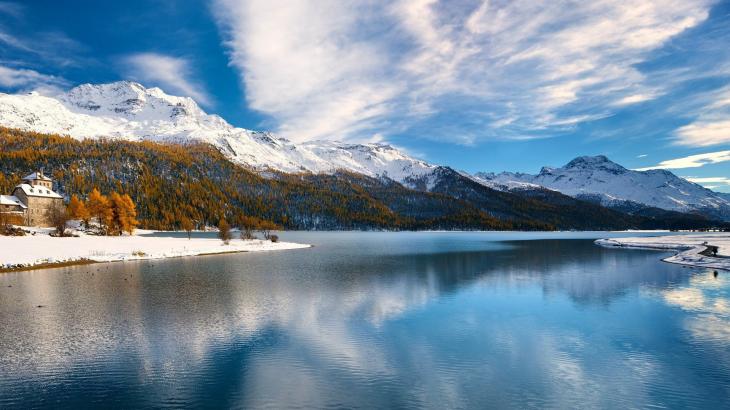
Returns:
[[[480,138],[574,127],[656,98],[663,90],[636,65],[703,22],[711,4],[216,0],[213,9],[249,106],[289,138],[363,138],[445,114],[483,123]]]

